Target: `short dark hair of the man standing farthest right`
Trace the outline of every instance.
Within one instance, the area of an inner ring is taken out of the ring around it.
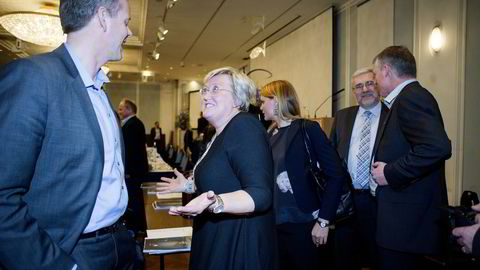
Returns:
[[[393,67],[398,77],[417,77],[417,64],[415,57],[405,46],[390,46],[385,48],[373,59],[381,64],[388,64]]]

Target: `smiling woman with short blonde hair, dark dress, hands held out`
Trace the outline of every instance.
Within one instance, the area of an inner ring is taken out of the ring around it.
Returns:
[[[273,164],[267,134],[247,113],[254,83],[225,67],[200,90],[215,135],[188,179],[163,178],[162,192],[196,192],[171,215],[194,216],[190,269],[275,269]]]

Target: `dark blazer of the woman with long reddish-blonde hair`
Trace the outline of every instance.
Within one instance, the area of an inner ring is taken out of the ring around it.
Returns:
[[[302,211],[311,213],[320,209],[319,217],[333,220],[340,202],[342,187],[346,181],[346,172],[320,125],[307,120],[305,127],[312,143],[312,154],[315,155],[328,179],[325,196],[320,204],[316,194],[316,183],[309,181],[306,177],[308,157],[302,134],[302,121],[305,120],[293,121],[287,133],[285,165],[293,195]]]

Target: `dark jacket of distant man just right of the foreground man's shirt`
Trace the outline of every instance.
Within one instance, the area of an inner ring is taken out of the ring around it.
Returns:
[[[148,172],[148,159],[145,144],[145,126],[136,116],[122,126],[125,144],[125,175],[132,178],[145,176]]]

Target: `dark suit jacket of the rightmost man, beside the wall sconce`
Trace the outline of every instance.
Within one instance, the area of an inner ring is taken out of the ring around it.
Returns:
[[[441,246],[440,206],[447,205],[445,160],[450,140],[435,98],[418,82],[397,96],[374,147],[387,186],[377,188],[377,242],[381,247],[435,253]]]

